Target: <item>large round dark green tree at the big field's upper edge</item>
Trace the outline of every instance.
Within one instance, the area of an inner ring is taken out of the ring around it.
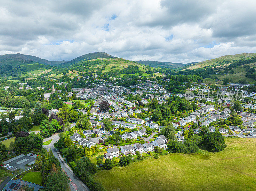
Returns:
[[[226,148],[224,137],[219,132],[208,132],[203,136],[203,144],[211,152],[219,152]]]

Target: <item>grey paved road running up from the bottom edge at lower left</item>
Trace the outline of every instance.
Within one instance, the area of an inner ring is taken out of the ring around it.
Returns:
[[[61,158],[58,156],[57,149],[54,147],[54,143],[56,143],[59,140],[59,136],[55,135],[47,139],[52,139],[52,142],[50,145],[44,145],[43,147],[46,148],[47,150],[52,149],[54,157],[59,159],[61,168],[67,173],[68,177],[75,184],[75,186],[73,186],[72,183],[69,183],[71,190],[72,191],[82,191],[82,190],[90,191],[89,188],[75,175],[75,173],[73,173],[72,169],[70,169],[69,166],[65,162],[63,162],[63,160],[61,160]],[[44,139],[44,141],[45,140],[46,139]]]

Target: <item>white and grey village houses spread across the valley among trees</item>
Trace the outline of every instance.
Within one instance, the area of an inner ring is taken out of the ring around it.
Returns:
[[[165,80],[168,82],[168,79]],[[62,84],[62,83],[60,83]],[[216,102],[217,104],[222,104],[222,106],[226,107],[228,104],[232,104],[233,98],[232,95],[235,94],[236,91],[240,91],[243,93],[243,98],[245,97],[252,97],[252,99],[256,98],[256,93],[248,93],[244,90],[242,90],[243,87],[248,87],[251,84],[232,84],[229,83],[225,87],[216,87],[214,91],[220,92],[220,99],[213,99],[211,96],[207,97],[207,93],[210,92],[209,85],[204,83],[196,83],[193,82],[192,88],[188,89],[190,91],[198,91],[202,94],[205,94],[205,100],[208,102],[208,104],[205,103],[199,103],[200,100],[199,97],[195,97],[195,101],[198,102],[199,109],[193,111],[188,116],[183,117],[181,120],[174,120],[173,126],[175,129],[178,129],[179,131],[176,131],[176,139],[178,142],[184,141],[184,136],[181,136],[182,131],[184,129],[189,129],[192,123],[197,123],[200,121],[200,127],[202,126],[209,126],[211,122],[218,121],[218,120],[225,120],[230,115],[230,109],[226,108],[223,111],[219,111],[218,109],[214,108],[214,104],[209,104],[209,102]],[[23,86],[24,84],[19,84]],[[67,85],[67,83],[65,84]],[[137,131],[133,131],[131,133],[124,133],[121,136],[122,139],[133,139],[136,140],[137,137],[142,137],[145,140],[144,144],[135,143],[132,145],[125,145],[121,146],[120,150],[117,148],[116,145],[114,147],[108,148],[107,153],[105,153],[105,158],[112,159],[113,157],[118,157],[120,155],[120,152],[124,155],[128,154],[134,154],[136,151],[139,151],[140,153],[148,152],[148,151],[154,151],[154,147],[158,146],[159,148],[166,149],[167,148],[167,138],[163,135],[157,136],[154,141],[152,140],[152,136],[159,133],[164,126],[159,126],[157,123],[151,120],[150,117],[146,119],[138,119],[138,118],[132,118],[133,114],[139,114],[144,111],[148,111],[147,107],[143,107],[142,109],[137,109],[135,111],[133,110],[122,110],[122,108],[125,106],[125,108],[132,108],[135,106],[135,100],[128,101],[124,100],[124,96],[120,96],[125,92],[125,94],[132,94],[132,95],[143,95],[143,93],[147,93],[144,98],[142,98],[141,102],[145,105],[147,104],[151,99],[155,98],[157,99],[158,103],[164,103],[164,101],[172,96],[172,93],[168,93],[162,85],[159,85],[157,81],[146,81],[142,82],[138,85],[131,85],[129,88],[122,87],[115,85],[115,79],[112,80],[112,83],[105,84],[102,82],[102,84],[93,84],[95,85],[94,88],[72,88],[72,91],[76,92],[76,97],[80,97],[81,100],[88,100],[88,99],[96,99],[94,106],[90,110],[90,114],[93,115],[93,117],[90,117],[91,122],[91,128],[89,130],[84,131],[84,136],[86,138],[81,137],[78,133],[75,133],[73,136],[71,136],[71,140],[73,142],[79,143],[79,145],[82,146],[88,146],[91,147],[92,145],[95,145],[98,143],[99,139],[106,139],[108,136],[113,135],[115,133],[116,129],[118,129],[120,126],[122,129],[134,129],[137,128]],[[108,87],[106,86],[108,85]],[[184,86],[184,85],[181,85]],[[6,87],[8,89],[9,87]],[[21,87],[22,88],[22,87]],[[32,87],[26,86],[26,89],[29,89]],[[39,89],[38,87],[37,89]],[[131,91],[132,89],[135,89],[135,91]],[[57,91],[56,91],[57,92]],[[49,99],[51,93],[44,94],[45,99]],[[72,97],[72,92],[68,93],[68,97]],[[186,96],[185,94],[175,94],[176,96]],[[60,98],[59,98],[60,99]],[[99,104],[101,101],[107,101],[111,108],[114,110],[112,113],[104,112],[99,113]],[[241,102],[243,102],[243,99],[240,99]],[[190,100],[192,101],[192,100]],[[125,105],[123,105],[125,104]],[[255,104],[243,104],[244,109],[256,109]],[[83,114],[86,114],[87,111],[81,110]],[[52,109],[49,110],[49,114],[57,114],[58,109]],[[98,115],[99,121],[95,121],[96,116]],[[223,134],[223,136],[238,136],[241,138],[254,138],[256,137],[256,129],[253,128],[256,125],[256,114],[250,113],[250,112],[240,112],[238,113],[241,120],[243,121],[242,126],[245,128],[242,130],[239,127],[236,126],[230,126],[229,129],[225,128],[218,128],[216,129],[213,126],[209,127],[210,132],[215,132],[218,130],[220,133]],[[103,118],[109,118],[112,119],[112,124],[115,126],[113,130],[107,132],[105,130],[105,125],[103,122],[100,122]],[[116,118],[125,118],[125,121],[115,121]],[[100,127],[100,128],[97,128]],[[149,127],[153,130],[152,135],[147,137],[146,134],[146,127]],[[198,134],[201,131],[200,128],[193,129],[193,132],[195,134]],[[232,134],[229,134],[231,131]],[[98,135],[97,138],[90,138],[92,134]],[[243,135],[246,134],[246,135]],[[145,137],[144,137],[145,136]]]

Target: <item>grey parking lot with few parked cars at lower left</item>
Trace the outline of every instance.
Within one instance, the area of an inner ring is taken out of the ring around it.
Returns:
[[[32,165],[36,161],[36,155],[30,156],[32,153],[29,153],[27,155],[19,155],[17,157],[11,158],[9,160],[4,161],[4,164],[9,164],[10,166],[13,166],[12,168],[8,169],[12,172],[18,170],[18,169],[25,169],[26,164]]]

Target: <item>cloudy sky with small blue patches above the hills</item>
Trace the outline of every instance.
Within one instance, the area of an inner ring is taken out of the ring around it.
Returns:
[[[255,0],[0,0],[0,55],[194,62],[256,52]]]

